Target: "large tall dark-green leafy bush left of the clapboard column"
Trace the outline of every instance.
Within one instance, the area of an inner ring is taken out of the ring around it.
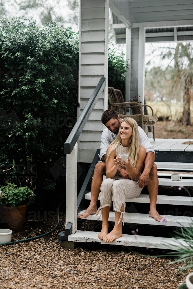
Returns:
[[[33,176],[39,188],[54,189],[49,171],[76,119],[78,38],[33,19],[0,26],[0,166],[14,158],[17,181]]]

